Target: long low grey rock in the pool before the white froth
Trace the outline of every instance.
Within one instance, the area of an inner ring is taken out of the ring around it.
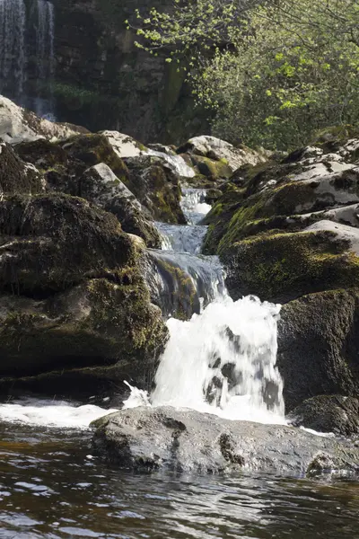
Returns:
[[[246,466],[276,473],[359,473],[354,444],[279,425],[161,407],[116,412],[93,426],[97,454],[132,470],[221,473]]]

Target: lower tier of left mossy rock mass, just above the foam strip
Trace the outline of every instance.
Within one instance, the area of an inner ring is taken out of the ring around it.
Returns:
[[[134,269],[122,271],[120,284],[90,279],[47,300],[2,296],[0,305],[3,391],[13,384],[47,392],[50,380],[52,390],[66,392],[71,377],[98,376],[105,384],[115,365],[108,388],[129,376],[144,383],[167,339],[161,312]],[[80,390],[89,391],[93,384]]]

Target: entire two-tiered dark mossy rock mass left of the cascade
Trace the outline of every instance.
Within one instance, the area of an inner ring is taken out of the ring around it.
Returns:
[[[0,201],[0,249],[2,390],[144,384],[167,330],[115,216],[64,194],[13,195]]]

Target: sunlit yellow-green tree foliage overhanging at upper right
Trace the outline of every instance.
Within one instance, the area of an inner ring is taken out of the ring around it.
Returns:
[[[219,137],[290,149],[359,122],[359,0],[174,0],[136,14],[137,46],[187,71]]]

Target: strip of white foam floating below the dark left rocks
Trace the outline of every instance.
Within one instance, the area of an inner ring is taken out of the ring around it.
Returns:
[[[116,410],[71,402],[28,399],[0,404],[0,420],[59,429],[87,429],[94,420]]]

